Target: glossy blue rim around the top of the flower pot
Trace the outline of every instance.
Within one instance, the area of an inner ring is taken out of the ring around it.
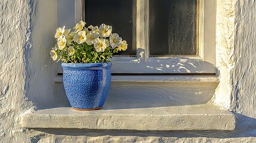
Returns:
[[[111,62],[104,63],[61,63],[64,70],[97,70],[110,69]]]

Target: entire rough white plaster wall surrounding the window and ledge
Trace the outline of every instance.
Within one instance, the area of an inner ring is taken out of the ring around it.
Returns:
[[[66,101],[53,96],[60,85],[53,81],[57,64],[49,55],[57,0],[2,0],[0,142],[256,142],[255,11],[255,0],[217,0],[220,84],[214,102],[235,111],[239,120],[234,132],[29,130],[21,128],[21,114]]]

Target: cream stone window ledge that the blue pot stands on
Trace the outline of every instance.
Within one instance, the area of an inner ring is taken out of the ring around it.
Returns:
[[[106,130],[234,130],[235,116],[211,104],[76,111],[49,108],[24,114],[24,128]]]

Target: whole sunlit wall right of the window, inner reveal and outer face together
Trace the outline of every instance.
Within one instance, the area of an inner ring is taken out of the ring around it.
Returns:
[[[256,1],[218,1],[215,103],[256,118]],[[226,96],[229,95],[229,96]]]

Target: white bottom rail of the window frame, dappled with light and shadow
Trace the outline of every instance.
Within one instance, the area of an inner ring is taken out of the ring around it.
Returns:
[[[179,55],[172,55],[172,57],[149,57],[144,61],[144,49],[137,49],[137,60],[127,62],[120,66],[115,65],[113,60],[112,71],[114,73],[201,73],[201,74],[214,74],[217,69],[214,64],[201,60],[199,57],[188,56],[182,57]],[[131,67],[135,69],[131,70]]]

